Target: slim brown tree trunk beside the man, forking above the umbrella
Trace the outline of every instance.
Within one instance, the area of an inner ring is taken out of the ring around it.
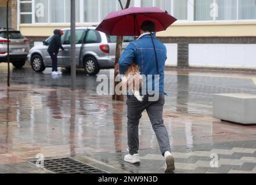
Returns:
[[[123,9],[121,0],[118,0],[118,1],[120,3],[121,9]],[[129,8],[130,2],[131,2],[131,0],[127,0],[124,9]],[[116,86],[118,84],[118,82],[116,82],[116,80],[115,80],[116,76],[118,75],[118,71],[117,71],[116,66],[118,64],[119,58],[121,57],[121,54],[122,54],[122,36],[117,36],[116,59],[115,59],[115,69],[114,69],[114,95],[112,97],[113,100],[117,100],[117,101],[124,101],[124,95],[122,95],[122,94],[121,95],[117,95],[116,91],[115,91]]]

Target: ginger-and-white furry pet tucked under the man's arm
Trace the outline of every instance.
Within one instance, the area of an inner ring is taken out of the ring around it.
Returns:
[[[138,101],[143,101],[144,96],[140,95],[139,92],[142,88],[142,76],[140,75],[138,65],[135,63],[129,65],[127,72],[125,72],[124,76],[122,76],[122,83],[125,87],[127,87],[127,90],[132,90]]]

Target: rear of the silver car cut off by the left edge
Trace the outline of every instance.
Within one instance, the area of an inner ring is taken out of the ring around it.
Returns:
[[[7,61],[7,30],[0,29],[0,62]],[[9,58],[13,66],[22,68],[27,60],[30,50],[28,39],[21,35],[20,31],[9,30]]]

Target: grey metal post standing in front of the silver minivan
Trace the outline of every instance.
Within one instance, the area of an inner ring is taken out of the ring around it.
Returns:
[[[75,90],[75,0],[71,0],[71,21],[70,21],[70,35],[71,35],[71,90]]]

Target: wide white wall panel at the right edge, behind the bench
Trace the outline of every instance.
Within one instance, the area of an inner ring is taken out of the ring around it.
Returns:
[[[190,44],[189,65],[256,67],[256,45]]]

